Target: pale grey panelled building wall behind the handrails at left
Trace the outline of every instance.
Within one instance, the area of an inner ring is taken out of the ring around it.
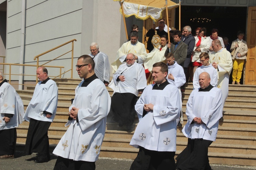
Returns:
[[[82,0],[27,0],[26,1],[26,35],[25,64],[36,64],[34,56],[59,46],[71,39],[74,43],[74,56],[80,56],[82,30]],[[7,45],[6,63],[19,63],[20,31],[21,31],[21,0],[9,0],[7,9]],[[71,43],[53,52],[41,56],[43,64],[67,51]],[[63,71],[71,68],[71,52],[59,60],[47,65],[64,66]],[[74,63],[74,65],[76,62]],[[7,70],[9,68],[6,67]],[[58,75],[59,69],[48,68],[49,76]],[[12,73],[18,73],[18,67],[12,68]],[[53,74],[54,73],[54,74]],[[35,74],[35,68],[25,68],[25,74]],[[73,73],[73,75],[76,75]],[[70,72],[63,75],[70,78]],[[15,79],[12,77],[12,79]],[[25,80],[35,80],[35,77],[25,77]]]

